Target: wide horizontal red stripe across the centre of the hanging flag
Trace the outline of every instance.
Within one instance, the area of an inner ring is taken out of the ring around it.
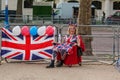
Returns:
[[[45,47],[52,46],[53,40],[43,42],[43,43],[38,43],[38,44],[18,44],[18,43],[13,43],[13,42],[8,42],[8,41],[2,41],[2,47],[8,47],[8,48],[14,48],[14,49],[20,49],[20,50],[36,50],[36,49],[41,49]]]

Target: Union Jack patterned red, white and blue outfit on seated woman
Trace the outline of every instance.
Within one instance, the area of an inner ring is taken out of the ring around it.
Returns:
[[[56,57],[56,53],[60,52],[61,55],[63,54],[69,54],[72,51],[72,46],[77,43],[77,37],[76,35],[65,35],[63,43],[62,44],[56,44],[53,48],[53,59]]]

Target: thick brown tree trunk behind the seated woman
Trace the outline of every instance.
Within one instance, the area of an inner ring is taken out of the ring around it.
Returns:
[[[92,0],[80,0],[80,7],[78,13],[78,34],[80,35],[91,35],[91,27],[87,26],[91,23],[91,2]],[[83,25],[83,26],[82,26]],[[86,26],[84,26],[86,25]],[[86,55],[92,55],[92,38],[84,37],[83,38],[86,51]]]

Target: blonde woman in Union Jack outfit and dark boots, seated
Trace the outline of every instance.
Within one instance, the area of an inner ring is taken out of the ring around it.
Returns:
[[[61,55],[61,60],[58,62],[56,65],[57,67],[61,67],[63,65],[64,59],[66,55],[70,55],[72,52],[72,47],[73,46],[80,46],[80,40],[79,38],[80,35],[76,35],[76,26],[74,24],[69,25],[68,27],[68,35],[65,35],[63,39],[63,43],[53,43],[54,48],[53,48],[53,54],[52,54],[52,60],[50,65],[46,66],[46,68],[54,68],[54,62],[57,53],[59,52]],[[84,51],[84,48],[82,48]]]

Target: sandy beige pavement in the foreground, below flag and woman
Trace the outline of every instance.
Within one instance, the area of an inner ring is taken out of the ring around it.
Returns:
[[[120,80],[120,72],[113,65],[83,63],[71,68],[46,69],[41,63],[2,63],[0,80]]]

